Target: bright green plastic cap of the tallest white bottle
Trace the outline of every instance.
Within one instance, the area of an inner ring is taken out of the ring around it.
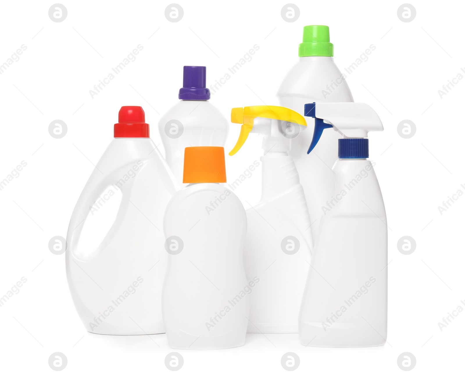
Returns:
[[[304,26],[304,38],[299,44],[299,57],[334,56],[334,46],[329,42],[329,27]]]

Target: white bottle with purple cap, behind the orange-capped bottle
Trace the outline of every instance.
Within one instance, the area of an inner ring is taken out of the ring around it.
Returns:
[[[205,66],[184,66],[183,87],[179,99],[158,123],[165,147],[166,162],[183,187],[184,149],[193,146],[223,147],[229,124],[219,110],[209,102]]]

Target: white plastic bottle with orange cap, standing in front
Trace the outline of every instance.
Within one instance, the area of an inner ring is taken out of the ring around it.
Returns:
[[[249,294],[243,248],[247,221],[226,182],[223,147],[187,147],[184,182],[166,207],[170,254],[163,289],[166,336],[174,349],[224,349],[246,340]]]

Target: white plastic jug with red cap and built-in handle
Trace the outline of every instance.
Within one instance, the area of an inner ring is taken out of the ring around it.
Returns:
[[[69,289],[89,332],[164,333],[161,292],[168,257],[162,219],[178,186],[149,138],[141,107],[121,107],[114,137],[87,181],[69,223]],[[102,211],[117,199],[116,215],[105,217]],[[99,224],[106,220],[108,231],[101,242],[85,245],[83,228],[85,233],[92,232],[87,222],[95,219]]]

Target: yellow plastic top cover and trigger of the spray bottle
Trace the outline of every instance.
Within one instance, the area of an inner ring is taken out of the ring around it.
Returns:
[[[286,107],[275,105],[254,105],[252,107],[233,108],[231,110],[231,122],[242,124],[239,139],[233,150],[229,152],[233,156],[244,145],[253,128],[253,120],[257,117],[272,118],[274,120],[289,121],[294,124],[307,126],[305,118],[299,113]]]

